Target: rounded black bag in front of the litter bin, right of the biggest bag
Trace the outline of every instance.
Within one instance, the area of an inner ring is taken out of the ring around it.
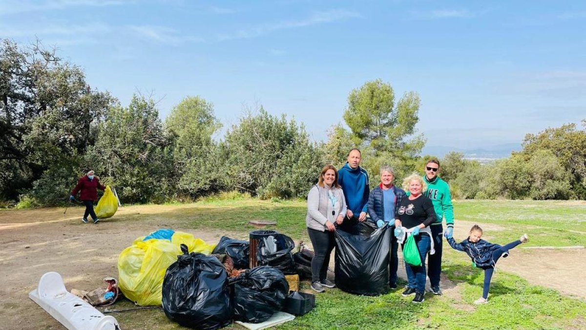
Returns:
[[[285,275],[274,267],[254,267],[229,281],[234,285],[234,319],[239,321],[267,321],[281,310],[289,294]]]

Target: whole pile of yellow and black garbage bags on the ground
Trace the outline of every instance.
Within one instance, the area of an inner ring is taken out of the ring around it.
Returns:
[[[271,265],[247,269],[247,241],[222,237],[209,245],[187,233],[158,230],[121,252],[120,288],[138,305],[162,305],[169,319],[190,328],[219,329],[233,320],[264,322],[289,297],[285,274],[272,265],[295,272],[295,264],[294,242],[286,235],[261,245],[258,260]],[[230,277],[227,268],[239,267],[239,275]]]

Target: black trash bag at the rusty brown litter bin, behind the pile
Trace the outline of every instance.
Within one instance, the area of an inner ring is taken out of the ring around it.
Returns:
[[[283,234],[276,234],[274,238],[277,240],[277,252],[274,253],[263,252],[265,250],[264,239],[258,241],[257,264],[259,266],[275,267],[285,275],[297,274],[297,268],[295,268],[295,261],[291,252],[295,248],[295,242],[291,237]]]

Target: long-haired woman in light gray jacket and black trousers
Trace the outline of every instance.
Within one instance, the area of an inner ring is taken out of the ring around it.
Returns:
[[[338,184],[338,170],[332,165],[323,167],[318,184],[307,195],[307,216],[305,224],[315,256],[311,261],[311,288],[323,292],[323,287],[333,288],[329,281],[328,265],[335,245],[334,223],[342,224],[346,214],[346,200]]]

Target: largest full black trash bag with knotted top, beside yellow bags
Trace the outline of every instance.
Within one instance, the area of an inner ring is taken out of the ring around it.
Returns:
[[[214,330],[232,322],[228,274],[216,257],[188,253],[182,255],[165,273],[163,310],[169,319],[194,329]]]

